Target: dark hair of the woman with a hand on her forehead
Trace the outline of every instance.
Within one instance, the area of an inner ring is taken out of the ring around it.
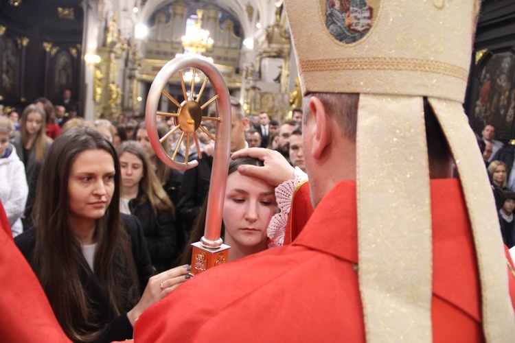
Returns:
[[[258,158],[252,157],[240,157],[236,158],[236,160],[229,161],[229,171],[227,176],[233,174],[233,172],[238,170],[240,165],[256,165],[258,167],[263,166],[263,161]],[[211,180],[212,182],[213,180]],[[207,215],[207,198],[204,199],[204,204],[202,206],[201,212],[198,213],[195,224],[193,225],[192,232],[190,233],[190,239],[188,239],[186,246],[184,247],[183,252],[181,253],[181,257],[179,259],[179,263],[177,265],[190,264],[192,261],[192,243],[200,241],[202,236],[204,235],[204,227],[205,227],[205,219]],[[224,235],[225,226],[222,222],[222,230],[220,231],[220,235]]]

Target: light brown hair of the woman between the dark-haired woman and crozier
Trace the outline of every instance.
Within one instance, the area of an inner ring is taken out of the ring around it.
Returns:
[[[116,151],[119,157],[126,152],[133,154],[143,164],[143,178],[139,181],[139,191],[142,191],[148,198],[154,210],[159,209],[160,211],[172,211],[174,213],[174,205],[168,198],[163,186],[161,186],[154,169],[152,169],[152,163],[145,148],[135,141],[125,141],[119,145]],[[142,198],[141,201],[143,202],[144,199]]]

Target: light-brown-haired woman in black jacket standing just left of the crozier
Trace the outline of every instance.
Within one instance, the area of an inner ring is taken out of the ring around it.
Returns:
[[[122,169],[122,213],[139,219],[152,265],[162,272],[170,268],[183,243],[177,242],[174,205],[161,187],[144,147],[126,141],[117,152]]]

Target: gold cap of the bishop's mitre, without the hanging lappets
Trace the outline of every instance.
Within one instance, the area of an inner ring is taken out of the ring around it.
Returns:
[[[298,3],[287,13],[304,95],[425,95],[463,102],[478,1],[286,2]]]

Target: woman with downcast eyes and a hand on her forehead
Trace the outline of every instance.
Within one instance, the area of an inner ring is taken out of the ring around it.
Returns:
[[[264,180],[243,176],[238,172],[240,165],[262,166],[263,163],[250,157],[229,162],[222,215],[222,238],[225,244],[231,246],[228,261],[266,250],[266,228],[272,216],[277,213],[274,187]],[[207,202],[192,230],[190,244],[200,241],[204,234],[206,207]],[[191,261],[190,244],[186,246],[181,261]]]

